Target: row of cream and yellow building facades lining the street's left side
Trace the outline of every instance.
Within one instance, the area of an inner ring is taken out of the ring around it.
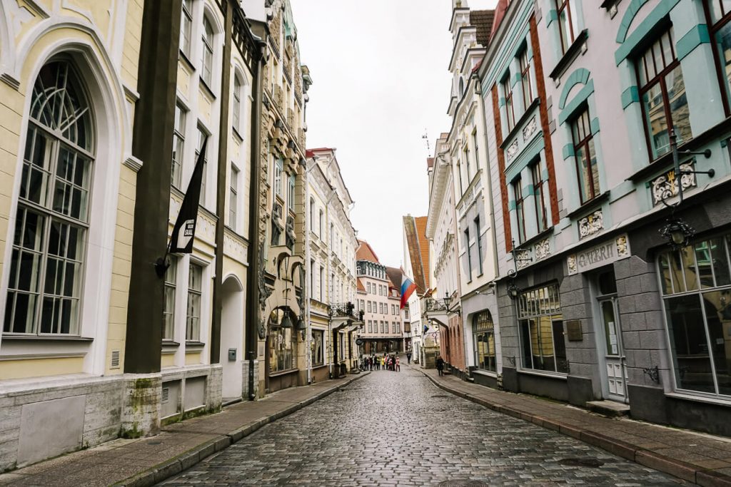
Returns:
[[[288,0],[0,0],[0,471],[357,369],[374,276],[311,83]]]

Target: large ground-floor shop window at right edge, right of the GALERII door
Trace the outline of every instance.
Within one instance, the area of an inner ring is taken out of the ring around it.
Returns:
[[[659,256],[675,386],[731,396],[730,236]]]

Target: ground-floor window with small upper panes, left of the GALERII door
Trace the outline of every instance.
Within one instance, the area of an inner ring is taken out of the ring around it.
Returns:
[[[569,372],[558,284],[521,293],[518,319],[523,368]]]

